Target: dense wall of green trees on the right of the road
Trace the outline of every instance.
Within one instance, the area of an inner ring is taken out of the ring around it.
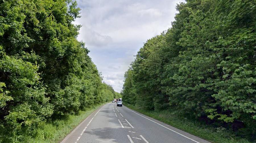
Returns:
[[[123,101],[256,134],[256,1],[187,0],[125,73]],[[252,137],[253,137],[252,136]]]

